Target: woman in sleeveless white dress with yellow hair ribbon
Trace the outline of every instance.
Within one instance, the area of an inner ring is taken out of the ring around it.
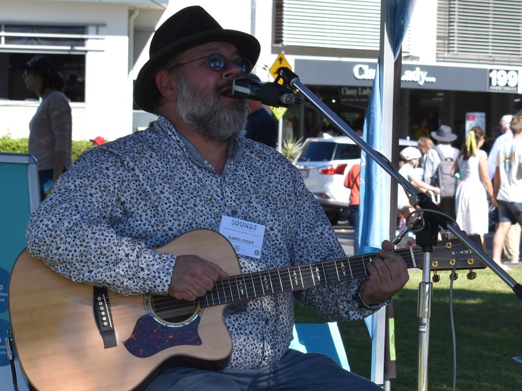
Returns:
[[[475,126],[469,131],[466,142],[452,169],[452,175],[460,174],[455,193],[457,224],[468,235],[478,234],[486,251],[484,235],[488,233],[488,198],[497,205],[493,185],[488,174],[488,155],[480,150],[484,143],[484,130]]]

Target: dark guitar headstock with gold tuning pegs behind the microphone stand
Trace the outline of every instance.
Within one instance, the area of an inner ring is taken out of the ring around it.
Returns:
[[[482,246],[479,235],[471,235],[469,238],[472,242],[477,243],[477,246]],[[459,253],[458,260],[457,253]],[[420,247],[414,248],[413,255],[415,257],[416,267],[423,268],[424,255]],[[433,247],[430,269],[432,271],[453,270],[455,263],[457,263],[457,270],[484,269],[487,267],[484,262],[464,243],[461,243],[459,239],[440,240],[437,245]]]

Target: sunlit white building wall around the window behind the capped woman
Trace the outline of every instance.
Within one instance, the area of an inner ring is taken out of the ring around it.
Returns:
[[[113,140],[132,132],[132,80],[128,77],[128,6],[125,4],[3,0],[0,19],[20,23],[104,24],[104,40],[89,45],[85,103],[72,103],[73,139]],[[0,101],[0,135],[28,137],[34,102]]]

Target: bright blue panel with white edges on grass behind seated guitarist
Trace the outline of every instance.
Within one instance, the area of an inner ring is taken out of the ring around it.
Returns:
[[[322,353],[337,361],[342,368],[350,370],[337,322],[296,323],[293,328],[293,337],[294,339],[290,343],[291,349],[303,353]]]

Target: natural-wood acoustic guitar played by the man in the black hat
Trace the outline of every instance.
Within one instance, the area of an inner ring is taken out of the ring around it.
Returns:
[[[480,239],[477,236],[477,240]],[[458,241],[440,242],[433,270],[484,268]],[[158,249],[195,254],[229,274],[188,302],[158,295],[122,296],[75,283],[23,251],[9,282],[9,316],[22,369],[38,390],[143,389],[168,366],[221,369],[232,353],[224,323],[229,303],[336,284],[367,275],[367,254],[265,272],[241,274],[230,242],[197,229]],[[395,250],[408,267],[422,268],[420,248]]]

